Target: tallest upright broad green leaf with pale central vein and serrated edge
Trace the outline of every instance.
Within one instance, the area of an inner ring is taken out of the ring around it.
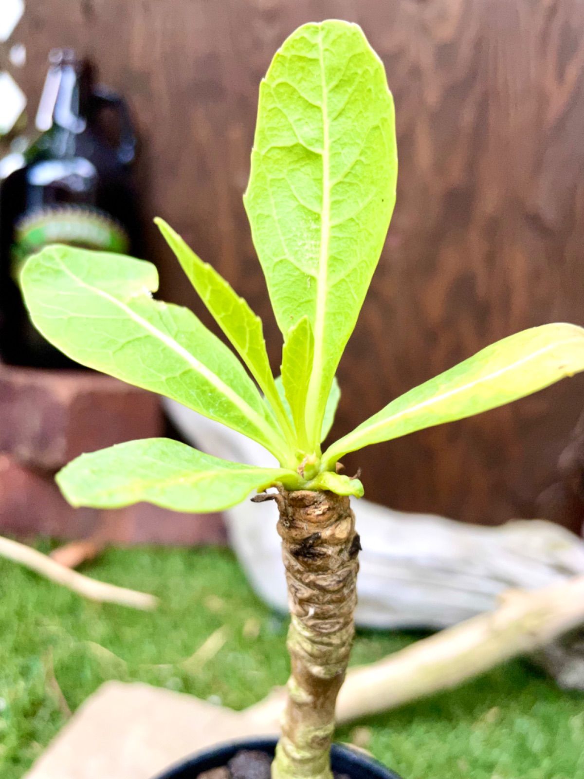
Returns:
[[[396,175],[392,96],[363,32],[339,21],[301,26],[260,86],[245,207],[280,330],[303,316],[312,326],[315,449],[385,241]]]

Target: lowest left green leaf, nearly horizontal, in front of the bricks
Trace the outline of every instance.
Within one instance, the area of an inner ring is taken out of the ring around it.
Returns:
[[[116,509],[147,501],[174,511],[222,511],[276,482],[297,488],[298,474],[220,460],[170,439],[130,441],[82,454],[57,474],[72,506]]]

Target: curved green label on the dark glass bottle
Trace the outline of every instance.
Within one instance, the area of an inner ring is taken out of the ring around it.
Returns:
[[[16,223],[12,277],[19,279],[27,257],[55,243],[118,254],[129,249],[124,228],[103,211],[86,206],[44,207],[26,213]]]

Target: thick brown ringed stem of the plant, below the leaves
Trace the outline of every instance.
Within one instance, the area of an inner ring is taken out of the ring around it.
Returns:
[[[331,779],[335,703],[354,636],[359,537],[349,499],[280,490],[292,672],[273,779]]]

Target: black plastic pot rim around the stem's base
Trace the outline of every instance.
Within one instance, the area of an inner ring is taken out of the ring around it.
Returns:
[[[212,749],[207,749],[205,752],[178,763],[157,779],[195,779],[203,771],[227,765],[241,749],[257,749],[259,752],[265,752],[273,757],[276,749],[276,738],[259,740],[250,738],[248,741],[229,742],[214,746]],[[350,779],[401,779],[398,774],[385,768],[377,760],[339,744],[332,745],[331,762],[332,770],[336,774],[347,774]]]

